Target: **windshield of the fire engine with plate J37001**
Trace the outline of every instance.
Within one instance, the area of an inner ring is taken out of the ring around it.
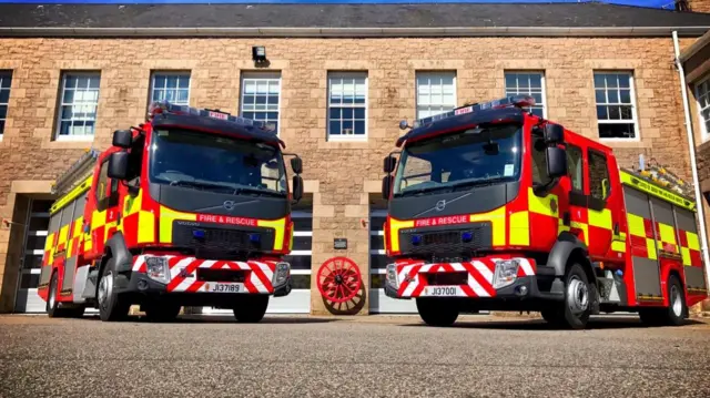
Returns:
[[[517,181],[520,153],[517,124],[462,130],[414,143],[402,152],[394,195]]]

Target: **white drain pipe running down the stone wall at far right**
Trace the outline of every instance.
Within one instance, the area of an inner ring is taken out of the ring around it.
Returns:
[[[680,75],[680,92],[683,98],[683,112],[686,113],[686,134],[688,136],[688,150],[690,152],[690,169],[692,172],[692,184],[696,191],[696,207],[698,208],[698,218],[700,220],[700,239],[702,245],[702,259],[706,263],[706,278],[709,279],[710,286],[710,257],[708,254],[708,232],[706,231],[706,216],[702,206],[702,195],[700,193],[700,181],[698,178],[698,163],[696,161],[696,142],[692,136],[692,122],[690,120],[690,106],[688,105],[688,86],[686,84],[686,72],[683,63],[680,61],[680,47],[678,45],[678,31],[673,31],[673,47],[676,49],[676,67],[678,75]]]

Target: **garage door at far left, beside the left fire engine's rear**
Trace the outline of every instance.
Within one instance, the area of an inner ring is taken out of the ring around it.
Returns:
[[[37,286],[40,282],[51,205],[52,201],[30,200],[20,256],[20,280],[14,299],[14,310],[18,313],[44,313],[45,309],[44,302],[37,295]]]

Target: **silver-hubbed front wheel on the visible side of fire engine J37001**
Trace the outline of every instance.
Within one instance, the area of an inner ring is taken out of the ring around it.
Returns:
[[[565,304],[560,326],[570,329],[587,327],[594,300],[594,290],[589,287],[585,269],[577,263],[572,264],[565,275]]]

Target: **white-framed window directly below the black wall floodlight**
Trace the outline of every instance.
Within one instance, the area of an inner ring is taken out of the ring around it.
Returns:
[[[281,74],[244,73],[240,103],[242,118],[270,123],[278,132]]]

